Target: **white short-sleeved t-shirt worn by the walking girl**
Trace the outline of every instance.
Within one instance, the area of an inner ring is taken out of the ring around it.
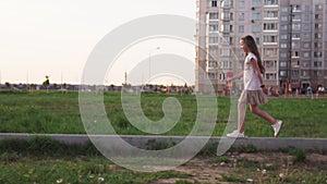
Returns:
[[[244,90],[262,90],[259,79],[254,72],[251,59],[254,59],[255,62],[257,62],[257,58],[255,57],[255,54],[249,52],[244,61]]]

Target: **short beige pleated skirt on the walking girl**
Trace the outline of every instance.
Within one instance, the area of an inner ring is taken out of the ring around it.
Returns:
[[[239,102],[246,105],[264,105],[268,102],[268,98],[263,90],[243,90]]]

